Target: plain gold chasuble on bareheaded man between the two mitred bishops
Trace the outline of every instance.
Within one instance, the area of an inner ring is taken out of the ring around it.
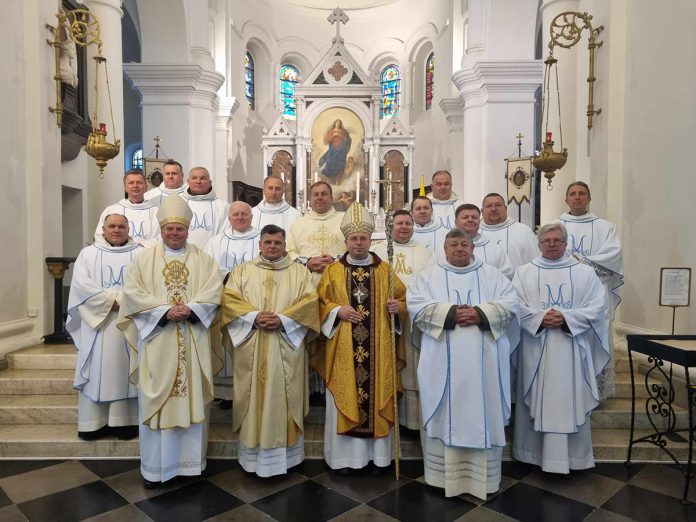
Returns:
[[[319,308],[309,270],[288,255],[277,261],[257,256],[234,268],[222,298],[223,335],[229,335],[230,323],[256,311],[291,319],[309,330],[307,337],[317,334]],[[292,333],[253,328],[233,348],[232,428],[246,448],[290,447],[304,432],[307,355],[304,341],[293,346],[286,335]]]

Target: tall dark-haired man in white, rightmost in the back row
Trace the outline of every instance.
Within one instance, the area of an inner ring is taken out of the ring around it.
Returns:
[[[613,347],[612,322],[621,302],[620,287],[624,284],[621,241],[616,225],[589,211],[590,187],[582,181],[571,183],[566,189],[569,211],[560,217],[568,231],[566,253],[592,267],[607,294],[606,317],[609,324],[609,344]],[[614,361],[598,377],[599,396],[602,400],[614,396]]]

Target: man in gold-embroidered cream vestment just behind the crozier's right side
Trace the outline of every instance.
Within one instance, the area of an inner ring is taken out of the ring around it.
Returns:
[[[419,245],[412,239],[413,217],[407,210],[394,212],[392,230],[394,239],[392,270],[404,286],[408,286],[417,274],[428,267],[433,255],[423,245]],[[373,251],[383,261],[388,261],[386,241],[375,243]],[[411,338],[410,320],[406,320],[401,325],[401,336],[405,344],[406,366],[401,370],[402,395],[399,399],[399,424],[410,430],[420,430],[422,423],[418,398],[418,376],[416,374],[420,349]]]

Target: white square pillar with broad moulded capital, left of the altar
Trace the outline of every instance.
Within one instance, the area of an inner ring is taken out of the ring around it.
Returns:
[[[216,93],[224,77],[196,64],[129,63],[123,68],[142,97],[143,139],[160,136],[163,151],[186,172],[194,166],[212,170]]]

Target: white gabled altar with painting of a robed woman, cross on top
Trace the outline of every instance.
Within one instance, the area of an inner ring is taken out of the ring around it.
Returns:
[[[266,176],[286,183],[285,199],[301,212],[308,208],[312,183],[331,185],[334,207],[364,204],[378,219],[385,203],[402,208],[412,199],[415,138],[397,115],[382,118],[380,83],[351,56],[340,34],[348,16],[336,9],[332,45],[302,79],[293,97],[294,118],[279,115],[262,137]],[[376,183],[391,177],[389,189]],[[389,191],[389,193],[387,192]]]

